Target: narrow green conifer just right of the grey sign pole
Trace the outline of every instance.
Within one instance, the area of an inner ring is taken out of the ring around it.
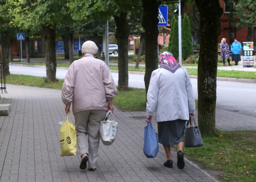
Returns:
[[[189,17],[184,14],[182,21],[182,58],[186,60],[193,54]]]

